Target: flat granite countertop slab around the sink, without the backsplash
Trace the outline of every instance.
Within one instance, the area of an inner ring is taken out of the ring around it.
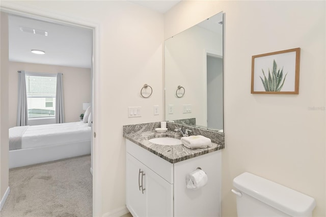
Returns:
[[[209,148],[188,149],[183,145],[157,145],[148,141],[159,137],[181,138],[178,132],[171,130],[167,132],[156,132],[155,130],[130,132],[124,133],[123,137],[172,164],[224,148],[224,145],[212,143],[212,147]]]

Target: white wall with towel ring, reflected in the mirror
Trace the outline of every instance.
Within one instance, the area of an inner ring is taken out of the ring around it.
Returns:
[[[206,51],[222,55],[222,40],[218,33],[193,26],[166,41],[166,111],[169,104],[174,105],[173,114],[166,112],[166,120],[196,118],[197,125],[207,126]],[[185,89],[181,98],[176,96],[179,85]],[[192,105],[191,113],[183,113],[184,104]]]

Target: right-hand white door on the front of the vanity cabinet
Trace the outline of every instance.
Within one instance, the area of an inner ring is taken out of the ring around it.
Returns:
[[[173,216],[173,184],[146,171],[147,216]]]

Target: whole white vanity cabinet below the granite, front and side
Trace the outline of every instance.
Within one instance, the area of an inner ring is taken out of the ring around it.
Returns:
[[[221,216],[221,151],[174,164],[129,140],[126,151],[126,205],[134,217]],[[198,167],[208,182],[188,189],[185,177]]]

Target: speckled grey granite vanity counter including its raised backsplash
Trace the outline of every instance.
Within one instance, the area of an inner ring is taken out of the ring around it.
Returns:
[[[188,149],[183,145],[157,145],[148,141],[158,137],[172,137],[180,139],[180,134],[178,132],[172,131],[176,126],[178,125],[168,125],[168,128],[170,129],[167,132],[156,132],[154,129],[159,127],[159,122],[126,125],[123,126],[123,137],[156,154],[157,156],[171,162],[172,164],[224,148],[223,133],[218,134],[219,139],[217,140],[219,143],[220,141],[223,141],[223,144],[212,143],[212,147],[210,148]],[[212,142],[216,141],[215,139],[210,139]]]

